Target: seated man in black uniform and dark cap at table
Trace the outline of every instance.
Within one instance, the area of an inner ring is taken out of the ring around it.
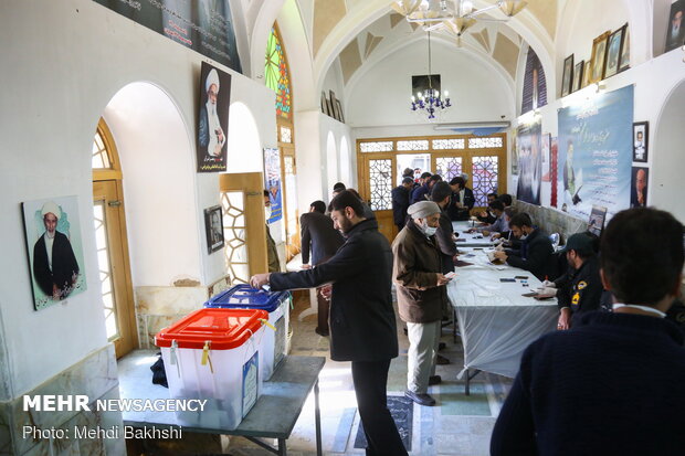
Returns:
[[[561,252],[566,254],[569,271],[555,282],[545,280],[540,296],[557,296],[559,321],[557,329],[569,329],[583,314],[598,310],[604,287],[599,274],[599,261],[592,240],[586,233],[568,238]]]

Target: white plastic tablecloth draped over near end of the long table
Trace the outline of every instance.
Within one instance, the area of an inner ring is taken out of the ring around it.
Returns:
[[[557,300],[521,296],[540,285],[533,274],[510,266],[489,264],[486,251],[464,250],[473,256],[460,259],[473,266],[457,267],[447,285],[447,296],[456,309],[464,346],[464,370],[479,369],[514,378],[520,357],[538,337],[556,329]],[[502,283],[499,278],[528,276]]]

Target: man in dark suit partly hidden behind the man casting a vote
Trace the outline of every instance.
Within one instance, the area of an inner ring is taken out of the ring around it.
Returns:
[[[309,205],[309,212],[302,214],[302,267],[307,269],[325,263],[336,254],[345,240],[338,230],[333,227],[333,220],[325,215],[326,203],[314,201]],[[312,253],[312,266],[309,266],[309,252]],[[318,326],[315,331],[319,336],[328,336],[328,301],[319,291],[318,299]]]

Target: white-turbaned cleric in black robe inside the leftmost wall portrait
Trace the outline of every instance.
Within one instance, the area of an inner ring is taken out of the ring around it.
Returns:
[[[49,299],[64,299],[78,279],[78,262],[70,238],[57,230],[62,209],[54,201],[48,201],[40,215],[44,232],[33,245],[33,278]]]

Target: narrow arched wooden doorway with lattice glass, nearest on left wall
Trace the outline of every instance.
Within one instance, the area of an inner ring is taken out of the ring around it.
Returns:
[[[101,119],[93,144],[93,219],[107,339],[122,358],[138,347],[122,170],[114,139]]]

